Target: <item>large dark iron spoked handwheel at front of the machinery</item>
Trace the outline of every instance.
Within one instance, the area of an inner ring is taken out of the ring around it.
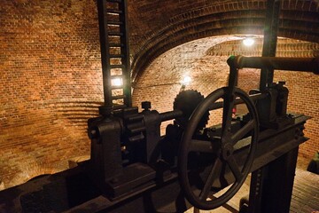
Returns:
[[[243,185],[253,165],[259,131],[257,111],[245,91],[229,90],[224,87],[207,96],[195,109],[183,132],[178,175],[186,198],[198,209],[215,209],[229,201]],[[241,106],[247,115],[245,122],[234,125],[232,114],[238,99],[243,100]],[[220,104],[222,111],[216,110]],[[198,123],[208,111],[213,115],[218,111],[221,116],[222,126],[214,137],[198,135],[197,131]]]

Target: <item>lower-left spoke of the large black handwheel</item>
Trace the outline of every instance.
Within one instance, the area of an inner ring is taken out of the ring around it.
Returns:
[[[213,169],[209,172],[209,175],[206,179],[206,183],[203,187],[203,190],[199,194],[199,199],[201,201],[206,201],[209,195],[209,192],[211,190],[211,187],[213,185],[214,179],[220,175],[221,170],[222,170],[222,161],[219,158],[217,158],[216,161],[214,162]]]

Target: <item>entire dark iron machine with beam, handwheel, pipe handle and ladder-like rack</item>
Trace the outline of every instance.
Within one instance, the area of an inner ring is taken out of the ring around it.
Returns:
[[[289,212],[298,147],[307,141],[303,130],[309,117],[287,113],[283,82],[268,82],[247,94],[237,88],[237,75],[244,67],[318,75],[319,59],[230,57],[227,87],[206,98],[198,91],[181,91],[173,111],[165,113],[144,101],[139,112],[131,106],[126,1],[98,0],[97,8],[105,106],[88,121],[90,160],[1,191],[0,211],[215,209],[227,206],[250,172],[266,168],[273,171],[268,179],[251,184],[251,195],[261,200],[250,199],[249,212]],[[113,85],[118,78],[123,84]],[[234,115],[237,107],[242,114]],[[161,136],[165,121],[172,123]],[[271,187],[256,186],[268,183]]]

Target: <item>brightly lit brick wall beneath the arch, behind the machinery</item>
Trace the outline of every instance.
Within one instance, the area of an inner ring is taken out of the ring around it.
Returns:
[[[145,69],[144,75],[136,83],[132,97],[133,105],[140,106],[142,101],[147,100],[151,101],[152,108],[159,112],[172,110],[185,75],[190,76],[192,80],[186,89],[197,90],[206,97],[210,92],[227,85],[230,69],[226,61],[230,54],[261,55],[262,41],[256,43],[257,45],[251,48],[252,51],[246,51],[240,50],[237,46],[239,36],[228,39],[225,37],[208,37],[200,41],[183,43],[160,55],[150,67]],[[221,50],[218,46],[229,51]],[[277,53],[282,57],[314,57],[319,54],[319,43],[281,38],[277,43]],[[246,92],[259,88],[260,74],[259,69],[240,70],[238,87]],[[286,82],[290,91],[288,112],[307,114],[312,117],[307,121],[305,130],[307,138],[310,139],[300,146],[300,155],[310,160],[319,147],[317,131],[319,105],[315,101],[316,97],[319,97],[319,91],[314,89],[319,85],[319,78],[307,72],[276,70],[274,82],[278,81]],[[210,118],[210,121],[216,122],[214,116]],[[162,134],[165,134],[166,124],[162,125]]]

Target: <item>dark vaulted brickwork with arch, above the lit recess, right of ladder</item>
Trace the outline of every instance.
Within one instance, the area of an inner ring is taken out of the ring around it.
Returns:
[[[207,36],[263,35],[266,0],[128,0],[133,81],[153,59]],[[278,36],[319,43],[319,1],[282,0]]]

